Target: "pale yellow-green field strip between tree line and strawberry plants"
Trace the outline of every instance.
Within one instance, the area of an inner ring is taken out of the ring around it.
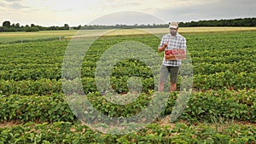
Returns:
[[[133,34],[162,34],[166,33],[166,28],[144,28],[144,29],[118,29],[118,30],[84,30],[84,37],[95,37],[102,32],[104,35],[133,35]],[[179,32],[236,32],[236,31],[256,31],[256,27],[180,27]],[[24,43],[35,41],[51,41],[72,38],[77,31],[41,31],[41,32],[0,32],[0,43]],[[79,37],[79,36],[76,36]]]

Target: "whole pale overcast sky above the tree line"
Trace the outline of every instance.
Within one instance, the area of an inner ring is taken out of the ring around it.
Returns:
[[[256,17],[255,0],[0,0],[3,21],[20,26],[152,25]]]

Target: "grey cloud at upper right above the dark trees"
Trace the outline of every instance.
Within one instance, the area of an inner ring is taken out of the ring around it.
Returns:
[[[155,14],[164,20],[178,21],[233,19],[255,17],[255,14],[252,13],[255,6],[254,0],[219,0],[183,7],[169,7],[157,11]]]

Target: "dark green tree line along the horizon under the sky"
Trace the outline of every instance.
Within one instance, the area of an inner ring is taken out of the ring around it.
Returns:
[[[179,22],[180,27],[195,27],[195,26],[256,26],[256,18],[241,18],[231,20],[199,20],[190,22]],[[38,32],[38,31],[56,31],[56,30],[94,30],[94,29],[129,29],[129,28],[163,28],[168,27],[168,24],[153,24],[153,25],[115,25],[115,26],[102,26],[102,25],[84,25],[84,26],[20,26],[20,23],[11,24],[9,20],[3,21],[0,26],[0,32]]]

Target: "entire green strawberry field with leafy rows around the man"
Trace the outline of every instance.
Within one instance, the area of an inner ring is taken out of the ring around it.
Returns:
[[[193,91],[182,115],[170,122],[178,95],[173,92],[160,118],[125,135],[91,130],[68,106],[61,67],[69,40],[0,44],[0,143],[256,143],[256,32],[182,35],[193,64]],[[136,59],[116,63],[110,82],[116,93],[129,96],[129,78],[141,79],[137,101],[116,105],[97,89],[96,62],[114,44],[127,41],[144,43],[157,53],[160,38],[151,34],[99,37],[84,56],[82,68],[74,70],[80,71],[87,99],[108,117],[136,115],[156,90],[154,74]],[[76,89],[76,85],[69,87]]]

